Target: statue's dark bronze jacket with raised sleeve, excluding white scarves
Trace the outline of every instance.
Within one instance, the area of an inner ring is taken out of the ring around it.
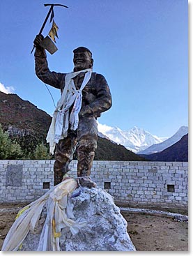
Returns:
[[[56,73],[48,68],[45,50],[36,47],[35,52],[36,75],[40,80],[63,91],[65,86],[65,73]],[[75,86],[80,88],[84,79],[84,73],[74,78]],[[82,108],[79,118],[84,116],[95,116],[95,119],[102,112],[111,107],[111,93],[105,77],[98,73],[92,73],[91,79],[82,91]]]

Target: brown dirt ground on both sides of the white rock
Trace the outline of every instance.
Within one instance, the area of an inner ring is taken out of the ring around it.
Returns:
[[[0,204],[0,248],[24,204]],[[188,223],[172,218],[139,213],[122,213],[128,221],[128,234],[138,251],[187,251]]]

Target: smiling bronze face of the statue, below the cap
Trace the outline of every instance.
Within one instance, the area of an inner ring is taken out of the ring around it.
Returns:
[[[88,52],[75,52],[73,62],[75,71],[84,70],[92,67],[92,59]]]

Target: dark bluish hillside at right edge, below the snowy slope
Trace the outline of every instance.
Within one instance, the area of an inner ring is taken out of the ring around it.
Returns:
[[[161,152],[140,156],[151,161],[188,162],[188,134],[184,135],[180,141]]]

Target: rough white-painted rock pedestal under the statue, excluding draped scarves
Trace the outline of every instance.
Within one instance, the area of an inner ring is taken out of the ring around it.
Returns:
[[[75,190],[73,193],[77,193]],[[77,197],[70,199],[75,220],[82,218],[87,224],[72,235],[63,228],[60,237],[62,251],[134,251],[136,250],[127,232],[128,223],[114,204],[114,200],[101,188],[81,188]],[[45,214],[45,211],[43,211]],[[43,214],[43,213],[42,213]],[[22,250],[36,251],[40,234],[29,233]]]

